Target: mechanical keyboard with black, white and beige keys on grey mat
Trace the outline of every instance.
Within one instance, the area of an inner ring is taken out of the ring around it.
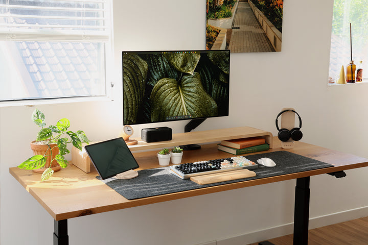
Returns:
[[[255,169],[258,168],[258,165],[243,156],[236,156],[172,165],[170,166],[170,173],[181,179],[189,179],[194,176],[216,174],[243,168]]]

